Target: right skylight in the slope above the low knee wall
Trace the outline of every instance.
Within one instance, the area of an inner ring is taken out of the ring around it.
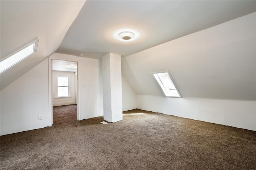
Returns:
[[[166,97],[181,97],[168,71],[153,73],[153,76]]]

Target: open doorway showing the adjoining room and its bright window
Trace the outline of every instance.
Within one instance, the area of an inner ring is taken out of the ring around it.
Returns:
[[[52,125],[79,120],[78,62],[52,59]]]

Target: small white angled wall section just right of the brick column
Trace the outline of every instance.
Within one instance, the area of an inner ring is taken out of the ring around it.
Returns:
[[[123,111],[128,111],[137,108],[136,93],[133,91],[132,87],[127,83],[127,81],[122,76],[122,101],[123,101]]]

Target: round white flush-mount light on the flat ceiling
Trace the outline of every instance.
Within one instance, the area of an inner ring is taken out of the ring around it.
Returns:
[[[138,38],[138,32],[132,29],[120,29],[114,33],[114,36],[117,40],[129,42]]]

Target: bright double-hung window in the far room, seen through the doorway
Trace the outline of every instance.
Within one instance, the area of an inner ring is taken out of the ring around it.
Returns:
[[[57,97],[69,97],[68,77],[58,77]]]

